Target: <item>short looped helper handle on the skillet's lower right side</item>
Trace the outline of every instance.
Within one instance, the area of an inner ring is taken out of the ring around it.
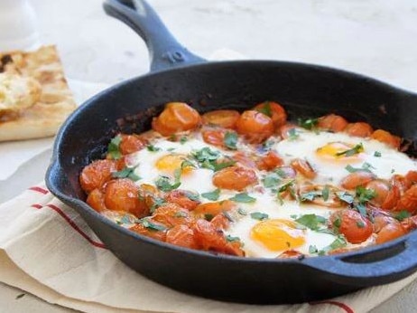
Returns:
[[[381,245],[372,251],[356,251],[352,255],[307,258],[303,263],[335,275],[338,281],[366,286],[366,281],[386,283],[412,273],[417,268],[417,232],[412,232],[394,245]]]

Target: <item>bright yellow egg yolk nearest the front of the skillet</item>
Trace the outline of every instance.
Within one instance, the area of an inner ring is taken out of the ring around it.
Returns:
[[[305,243],[304,231],[297,229],[296,223],[281,219],[257,223],[251,230],[251,237],[270,251],[294,249]]]

